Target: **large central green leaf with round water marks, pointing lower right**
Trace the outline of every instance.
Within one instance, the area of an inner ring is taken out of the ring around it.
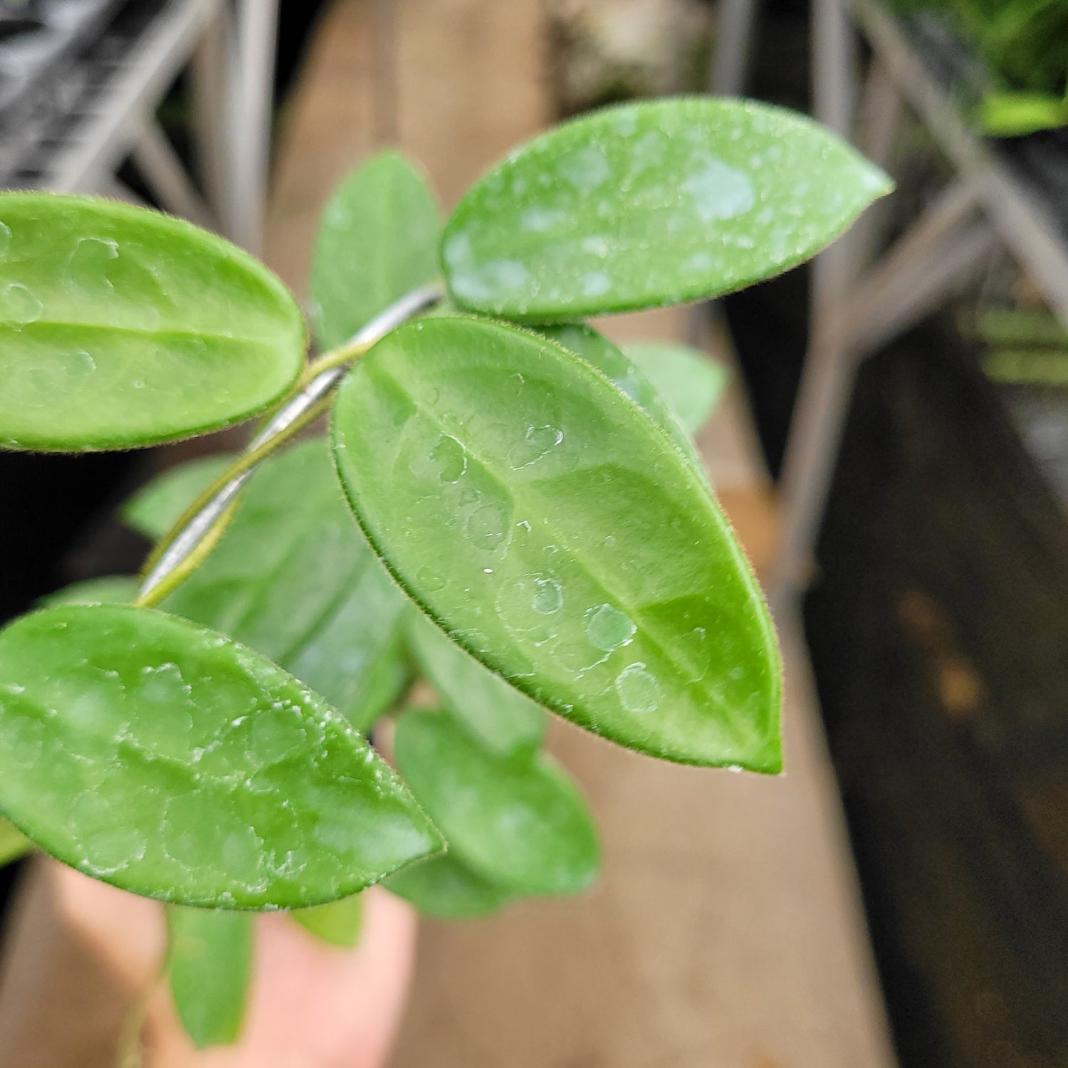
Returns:
[[[584,361],[485,320],[409,324],[342,383],[333,439],[372,545],[488,668],[641,752],[780,769],[744,555],[693,465]]]

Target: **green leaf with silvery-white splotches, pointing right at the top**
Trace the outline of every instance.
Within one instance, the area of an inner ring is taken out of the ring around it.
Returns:
[[[456,303],[553,323],[711,297],[801,263],[891,189],[812,120],[748,100],[609,108],[513,152],[457,205]]]

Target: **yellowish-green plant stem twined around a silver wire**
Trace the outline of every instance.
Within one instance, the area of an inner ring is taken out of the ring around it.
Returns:
[[[230,470],[217,478],[160,539],[145,563],[141,590],[134,603],[139,608],[159,603],[190,575],[222,536],[252,469],[327,410],[333,392],[352,362],[379,339],[438,303],[443,296],[440,285],[413,289],[344,345],[310,363],[298,382],[297,392],[267,420]]]

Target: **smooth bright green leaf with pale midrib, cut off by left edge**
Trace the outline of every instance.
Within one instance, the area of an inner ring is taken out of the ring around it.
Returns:
[[[0,445],[173,441],[277,400],[304,362],[285,286],[188,222],[0,193]]]

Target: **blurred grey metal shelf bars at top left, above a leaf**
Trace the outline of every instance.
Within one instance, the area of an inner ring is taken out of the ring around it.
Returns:
[[[58,143],[41,150],[25,184],[131,200],[116,171],[132,157],[162,207],[258,253],[277,27],[278,0],[168,0],[108,64],[103,84]],[[204,195],[156,120],[187,66]]]

